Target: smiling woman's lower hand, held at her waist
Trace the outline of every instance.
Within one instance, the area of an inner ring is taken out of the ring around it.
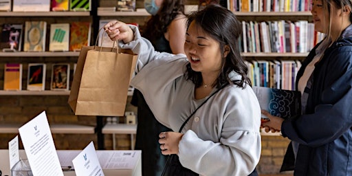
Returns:
[[[176,132],[162,132],[159,134],[160,149],[162,149],[163,155],[178,154],[179,153],[179,141],[181,140],[182,133]]]

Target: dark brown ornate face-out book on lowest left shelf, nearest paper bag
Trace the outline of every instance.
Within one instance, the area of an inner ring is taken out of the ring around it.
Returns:
[[[69,63],[52,64],[50,89],[53,91],[69,90]]]

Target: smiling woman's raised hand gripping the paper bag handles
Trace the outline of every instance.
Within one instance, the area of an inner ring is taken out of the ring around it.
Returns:
[[[124,41],[124,43],[129,43],[134,38],[133,30],[129,28],[129,25],[121,21],[110,21],[104,25],[104,30],[112,41]]]

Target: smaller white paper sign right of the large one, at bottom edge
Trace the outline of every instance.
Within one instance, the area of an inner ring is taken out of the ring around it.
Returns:
[[[72,164],[77,176],[104,176],[93,142],[72,160]]]

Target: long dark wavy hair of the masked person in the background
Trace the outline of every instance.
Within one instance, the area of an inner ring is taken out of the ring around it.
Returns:
[[[150,41],[158,39],[167,32],[171,21],[180,14],[185,15],[184,0],[164,0],[157,14],[146,22],[142,36]]]

